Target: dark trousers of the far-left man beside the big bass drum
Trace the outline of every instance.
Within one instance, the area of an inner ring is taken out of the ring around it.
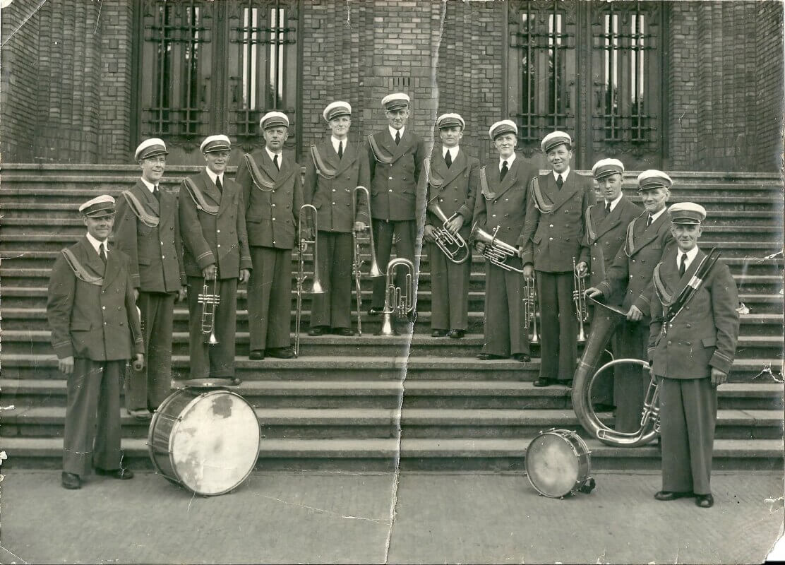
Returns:
[[[84,477],[93,466],[120,468],[120,383],[125,366],[125,359],[75,358],[66,385],[63,471]]]

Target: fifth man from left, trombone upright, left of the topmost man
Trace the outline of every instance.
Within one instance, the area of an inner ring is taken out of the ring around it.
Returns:
[[[368,154],[356,141],[349,141],[352,106],[335,101],[322,113],[330,127],[330,137],[311,146],[305,168],[305,203],[317,210],[319,234],[319,280],[327,292],[313,295],[309,336],[334,333],[352,336],[352,229],[368,226],[367,202],[360,193],[356,216],[352,199],[356,186],[369,186]]]

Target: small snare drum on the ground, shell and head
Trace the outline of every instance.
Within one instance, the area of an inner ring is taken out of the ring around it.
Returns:
[[[589,447],[574,431],[542,432],[526,450],[526,472],[531,486],[543,496],[563,498],[593,482]],[[593,488],[593,484],[592,484]]]

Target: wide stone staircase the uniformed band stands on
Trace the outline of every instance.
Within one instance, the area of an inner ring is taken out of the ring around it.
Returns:
[[[49,269],[57,252],[84,231],[76,206],[98,193],[116,196],[133,183],[137,171],[22,164],[0,170],[0,387],[2,405],[13,405],[0,412],[0,449],[9,454],[7,464],[60,464],[66,396],[46,326]],[[193,171],[170,167],[165,185],[176,189]],[[627,174],[625,182],[633,199],[635,175]],[[782,182],[776,174],[671,175],[671,202],[693,200],[707,207],[701,246],[721,249],[740,299],[750,309],[741,319],[730,382],[719,388],[715,468],[781,468],[783,262],[776,254],[783,243]],[[430,273],[424,255],[411,343],[408,336],[374,336],[380,321],[365,314],[370,284],[363,279],[362,336],[303,334],[300,358],[249,361],[246,291],[241,288],[236,365],[243,385],[238,392],[254,406],[261,424],[258,467],[389,470],[400,456],[404,469],[509,470],[523,467],[526,447],[540,431],[568,428],[588,438],[571,409],[568,389],[532,386],[539,358],[528,364],[476,360],[483,342],[483,292],[484,262],[475,256],[469,333],[464,339],[430,337]],[[293,293],[293,331],[294,299]],[[305,295],[304,331],[308,320]],[[178,305],[175,384],[188,373],[187,322],[187,310]],[[122,430],[127,461],[149,468],[146,424],[123,410]],[[625,449],[593,439],[588,443],[594,468],[659,468],[654,445]]]

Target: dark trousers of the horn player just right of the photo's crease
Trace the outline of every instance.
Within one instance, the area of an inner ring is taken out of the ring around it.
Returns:
[[[428,244],[431,266],[431,328],[469,327],[469,276],[472,258],[456,265],[436,246]]]

